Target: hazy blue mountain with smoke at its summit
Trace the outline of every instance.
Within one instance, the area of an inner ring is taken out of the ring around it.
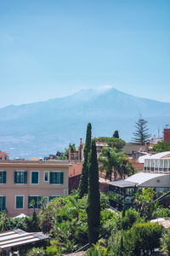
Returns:
[[[46,102],[0,108],[0,149],[14,157],[42,157],[64,150],[85,137],[88,122],[93,136],[118,130],[129,141],[142,113],[152,135],[170,120],[170,103],[128,95],[120,90],[80,90]]]

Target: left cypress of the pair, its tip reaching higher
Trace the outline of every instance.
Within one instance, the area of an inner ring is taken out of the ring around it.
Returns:
[[[92,125],[88,123],[86,131],[86,143],[84,147],[84,161],[82,164],[82,175],[78,188],[78,195],[80,198],[82,198],[84,194],[88,194],[88,153],[90,152],[91,137]]]

